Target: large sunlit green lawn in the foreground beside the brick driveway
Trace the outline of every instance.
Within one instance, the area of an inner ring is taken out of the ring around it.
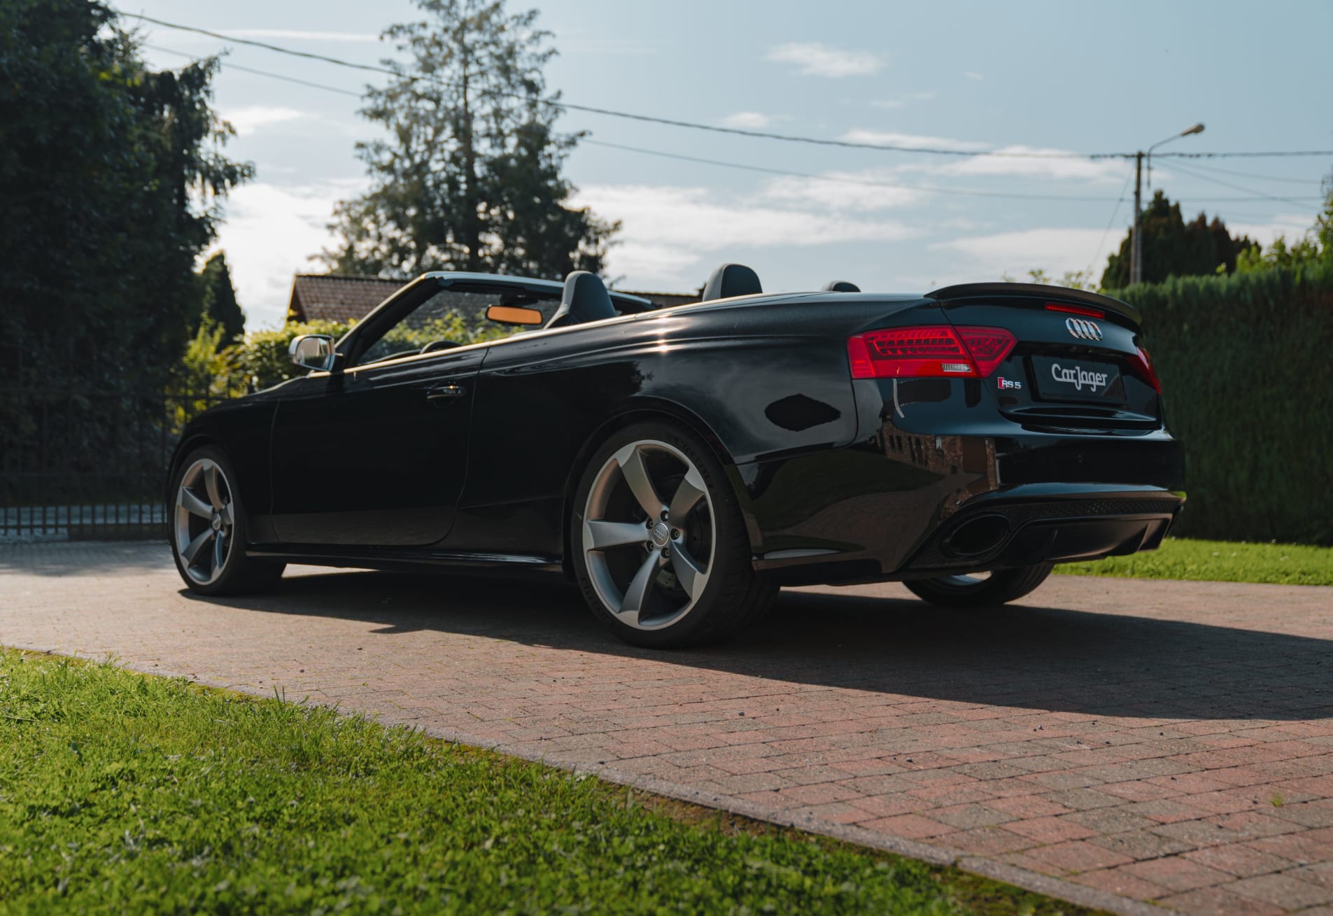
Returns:
[[[329,709],[8,651],[0,909],[1086,912]]]

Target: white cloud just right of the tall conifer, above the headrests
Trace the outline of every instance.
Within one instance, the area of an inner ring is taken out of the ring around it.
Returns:
[[[724,260],[729,248],[896,241],[916,233],[892,220],[778,207],[766,192],[728,197],[709,188],[587,185],[576,205],[623,221],[608,269],[625,275],[628,288],[693,289],[708,261]]]

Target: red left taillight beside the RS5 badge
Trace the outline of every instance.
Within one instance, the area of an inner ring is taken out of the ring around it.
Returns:
[[[848,337],[853,379],[985,377],[1013,349],[1004,328],[884,328]]]

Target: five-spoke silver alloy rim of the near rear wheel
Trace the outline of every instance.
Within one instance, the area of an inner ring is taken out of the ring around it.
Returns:
[[[708,484],[684,452],[652,439],[625,445],[597,472],[583,517],[588,577],[617,620],[661,629],[690,612],[717,532]]]

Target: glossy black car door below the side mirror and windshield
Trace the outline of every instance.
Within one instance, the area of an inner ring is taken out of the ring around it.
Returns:
[[[272,439],[279,539],[364,547],[443,540],[467,476],[485,352],[445,349],[288,383]]]

